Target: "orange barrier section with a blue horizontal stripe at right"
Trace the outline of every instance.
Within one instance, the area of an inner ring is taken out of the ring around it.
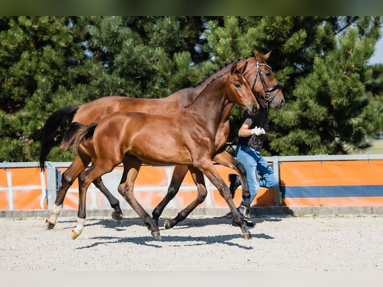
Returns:
[[[279,172],[283,205],[383,205],[383,160],[284,161]]]

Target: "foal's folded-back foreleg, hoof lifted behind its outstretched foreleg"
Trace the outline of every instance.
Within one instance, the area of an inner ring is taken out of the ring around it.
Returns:
[[[165,227],[165,229],[169,229],[169,228],[173,227],[175,224],[177,224],[179,221],[182,221],[183,219],[185,219],[187,217],[187,215],[189,215],[190,212],[192,210],[194,210],[195,207],[197,207],[198,204],[202,203],[203,200],[205,200],[205,198],[206,198],[207,189],[205,186],[205,180],[203,178],[203,173],[200,172],[198,169],[195,169],[194,167],[189,167],[189,170],[191,173],[191,177],[192,177],[195,185],[197,186],[197,190],[198,190],[197,198],[195,198],[195,200],[193,200],[189,205],[187,205],[186,208],[184,208],[182,211],[178,212],[178,214],[177,214],[177,216],[175,216],[175,218],[173,218],[171,220],[166,220],[165,224],[163,225],[163,227]]]

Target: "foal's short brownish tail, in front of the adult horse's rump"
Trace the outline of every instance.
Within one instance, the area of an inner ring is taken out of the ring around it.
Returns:
[[[93,137],[94,129],[97,124],[98,122],[92,122],[86,125],[72,122],[62,138],[61,147],[69,148],[70,146],[73,146],[75,149],[78,149],[78,146],[82,142]]]

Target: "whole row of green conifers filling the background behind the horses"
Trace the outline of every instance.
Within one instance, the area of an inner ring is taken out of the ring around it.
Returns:
[[[286,100],[264,155],[365,151],[383,126],[378,16],[0,17],[0,161],[36,161],[49,114],[106,95],[159,98],[254,49]],[[242,109],[230,115],[232,152]],[[59,142],[59,138],[57,140]],[[54,147],[48,160],[69,161]]]

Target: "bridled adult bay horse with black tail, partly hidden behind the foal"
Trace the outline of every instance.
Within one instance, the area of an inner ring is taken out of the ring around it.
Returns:
[[[247,81],[252,82],[251,89],[257,96],[260,104],[271,108],[280,108],[284,104],[284,97],[280,86],[275,82],[271,72],[271,67],[266,62],[270,52],[262,56],[257,50],[254,50],[254,55],[255,57],[238,60],[238,64],[242,64],[245,61],[248,62],[243,76]],[[230,67],[230,65],[226,65],[224,68],[211,74],[197,86],[181,89],[165,98],[144,99],[129,98],[124,96],[105,96],[82,105],[69,105],[56,110],[48,117],[42,129],[41,149],[39,156],[39,166],[41,170],[43,171],[45,168],[45,160],[47,154],[54,145],[54,138],[57,137],[60,129],[61,131],[65,131],[68,123],[70,122],[70,118],[74,113],[75,115],[72,119],[72,122],[75,121],[82,124],[88,124],[91,122],[99,121],[102,117],[116,110],[158,113],[180,108],[190,104],[212,78],[227,72]],[[224,146],[226,144],[227,136],[229,133],[228,117],[232,106],[233,103],[226,105],[226,111],[222,115],[221,123],[215,137],[216,152],[213,160],[219,164],[233,168],[240,175],[242,183],[242,197],[244,198],[244,204],[240,206],[240,211],[246,217],[249,217],[250,205],[248,200],[246,200],[247,197],[249,198],[248,184],[245,174],[246,171],[239,161],[237,161],[224,150]],[[83,170],[83,166],[86,167],[89,163],[90,161],[82,162],[77,155],[67,170],[63,172],[56,200],[50,210],[51,215],[45,220],[45,224],[48,229],[53,228],[56,223],[56,219],[61,210],[61,204],[66,195],[67,189],[73,183],[79,172]],[[158,218],[166,204],[175,196],[179,190],[187,170],[187,166],[176,165],[174,167],[167,193],[161,202],[152,211],[153,219],[156,222],[158,222]],[[93,183],[106,196],[110,206],[114,209],[112,212],[112,218],[117,222],[121,222],[122,211],[120,209],[118,199],[116,199],[104,186],[101,178],[95,179]],[[173,226],[175,224],[176,221],[174,221],[174,219],[171,220],[171,225]]]

